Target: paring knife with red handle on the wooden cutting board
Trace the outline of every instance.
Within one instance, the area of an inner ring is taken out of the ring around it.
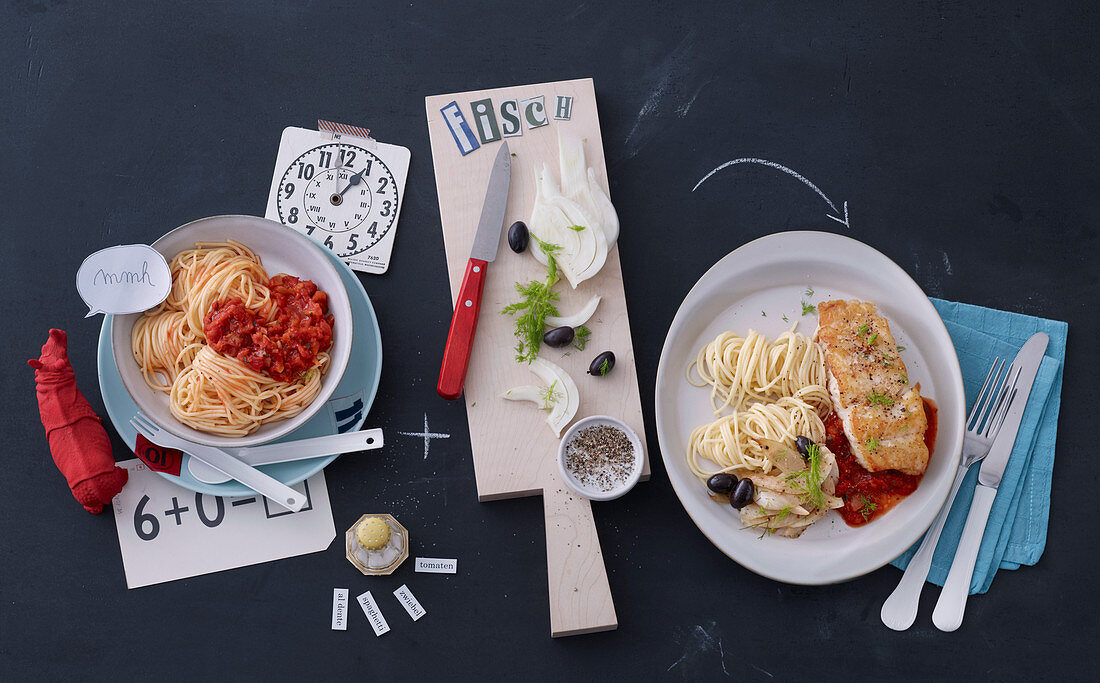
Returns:
[[[482,290],[485,288],[485,268],[496,260],[496,250],[501,245],[504,208],[508,203],[510,183],[512,155],[508,152],[508,143],[505,142],[501,145],[496,159],[493,161],[481,220],[477,222],[477,232],[474,233],[474,246],[470,250],[466,274],[462,277],[462,286],[454,304],[454,315],[451,317],[451,330],[447,333],[443,364],[439,368],[439,384],[436,385],[436,392],[448,400],[453,400],[462,394],[462,385],[466,379],[470,350],[473,346],[474,332],[477,330],[477,311],[481,308]]]

